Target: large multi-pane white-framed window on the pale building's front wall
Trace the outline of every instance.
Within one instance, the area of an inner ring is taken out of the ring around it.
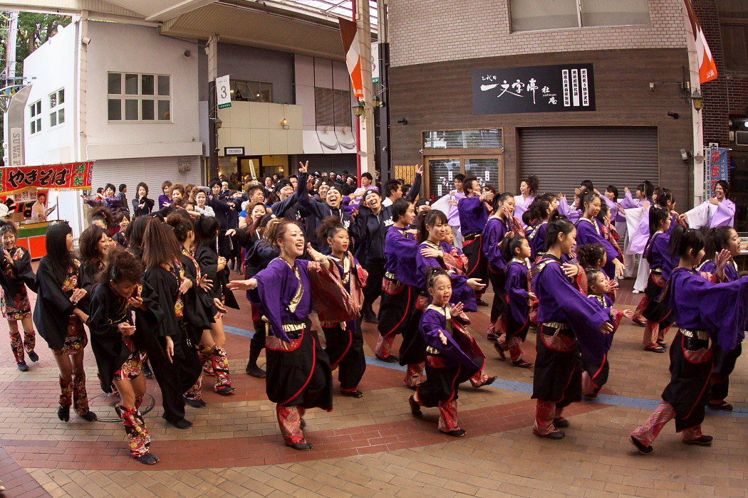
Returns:
[[[108,73],[110,122],[171,122],[171,76]]]

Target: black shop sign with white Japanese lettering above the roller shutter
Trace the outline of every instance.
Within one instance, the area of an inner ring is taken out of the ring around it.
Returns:
[[[592,64],[473,71],[473,114],[595,111]]]

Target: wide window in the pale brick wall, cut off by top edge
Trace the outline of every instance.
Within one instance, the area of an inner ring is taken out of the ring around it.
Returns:
[[[512,31],[649,24],[648,0],[509,0]]]

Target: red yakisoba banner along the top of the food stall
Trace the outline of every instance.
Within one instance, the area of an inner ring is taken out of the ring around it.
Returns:
[[[47,164],[45,166],[4,166],[0,168],[0,194],[27,188],[91,188],[93,161],[85,163]]]

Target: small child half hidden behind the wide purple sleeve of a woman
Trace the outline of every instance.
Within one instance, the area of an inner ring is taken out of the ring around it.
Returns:
[[[608,373],[610,373],[610,363],[607,361],[607,352],[610,346],[613,346],[613,333],[618,329],[623,317],[631,318],[634,311],[631,310],[613,310],[613,299],[607,294],[608,278],[605,272],[598,269],[586,270],[587,275],[587,299],[593,305],[604,310],[610,317],[610,324],[613,331],[605,336],[604,355],[602,363],[589,361],[582,355],[582,394],[588,399],[595,399],[602,387],[607,382]]]

